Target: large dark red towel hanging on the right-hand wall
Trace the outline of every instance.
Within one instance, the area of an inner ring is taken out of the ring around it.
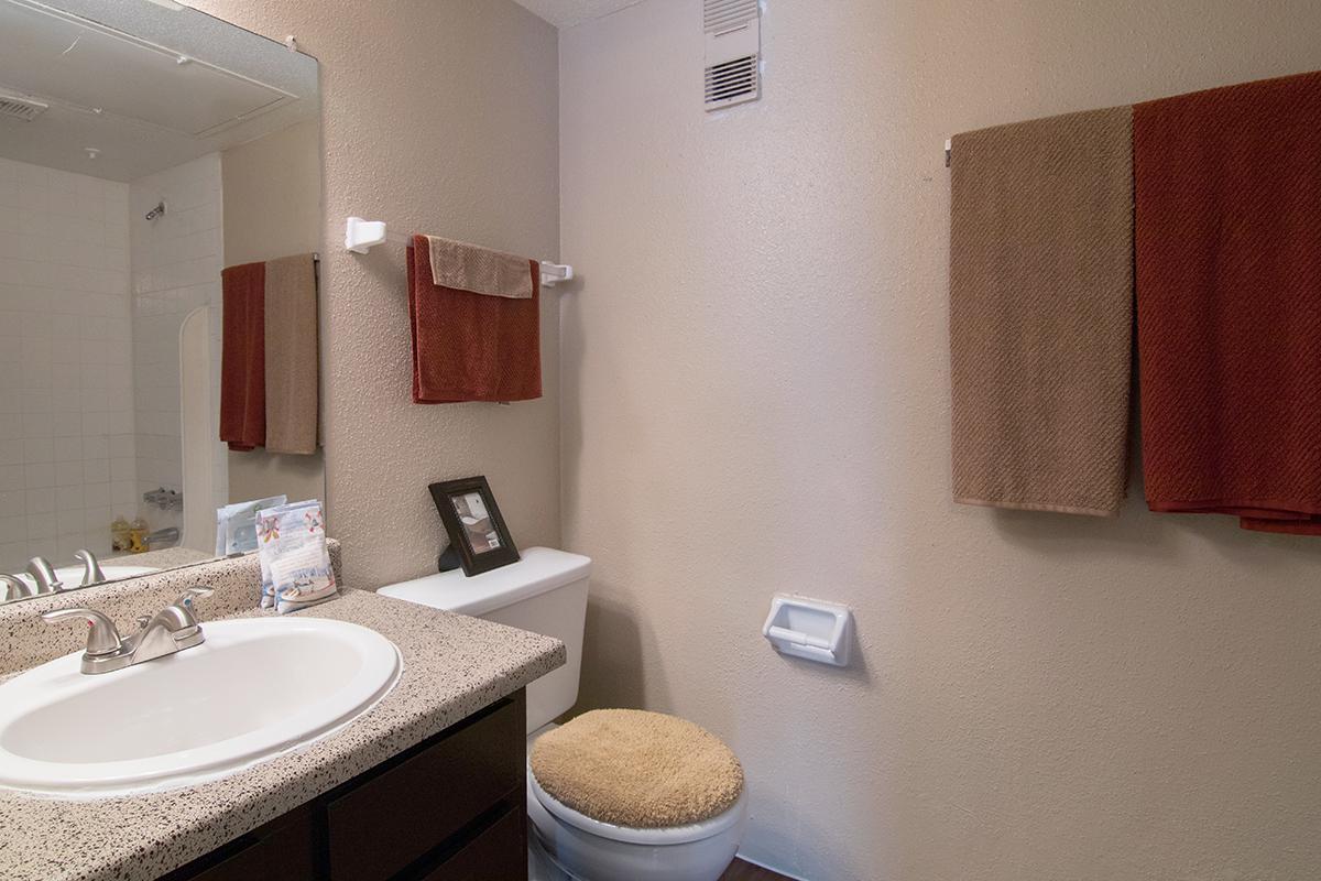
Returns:
[[[1321,74],[1133,107],[1153,511],[1321,534]]]

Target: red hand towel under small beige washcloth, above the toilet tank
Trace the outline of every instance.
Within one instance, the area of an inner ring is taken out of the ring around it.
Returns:
[[[408,247],[413,403],[531,400],[542,396],[540,267],[532,297],[513,300],[437,288],[425,236]]]

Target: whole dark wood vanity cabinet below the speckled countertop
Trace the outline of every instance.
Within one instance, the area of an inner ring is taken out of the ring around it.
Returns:
[[[165,878],[526,881],[524,717],[518,691]]]

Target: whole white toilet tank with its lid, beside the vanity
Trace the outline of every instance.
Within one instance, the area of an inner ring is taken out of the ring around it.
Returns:
[[[518,563],[468,577],[462,569],[380,588],[378,593],[555,637],[568,660],[527,687],[527,730],[577,701],[583,622],[592,560],[553,548],[527,548]]]

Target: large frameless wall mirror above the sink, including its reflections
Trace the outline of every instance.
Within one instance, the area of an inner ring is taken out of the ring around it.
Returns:
[[[321,229],[316,59],[172,0],[0,0],[0,601],[325,498]]]

